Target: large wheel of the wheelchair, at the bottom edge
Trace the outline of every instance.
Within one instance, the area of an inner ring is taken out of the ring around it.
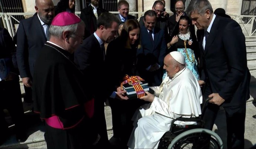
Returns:
[[[185,131],[175,137],[168,149],[222,149],[220,137],[208,129],[197,128]]]

